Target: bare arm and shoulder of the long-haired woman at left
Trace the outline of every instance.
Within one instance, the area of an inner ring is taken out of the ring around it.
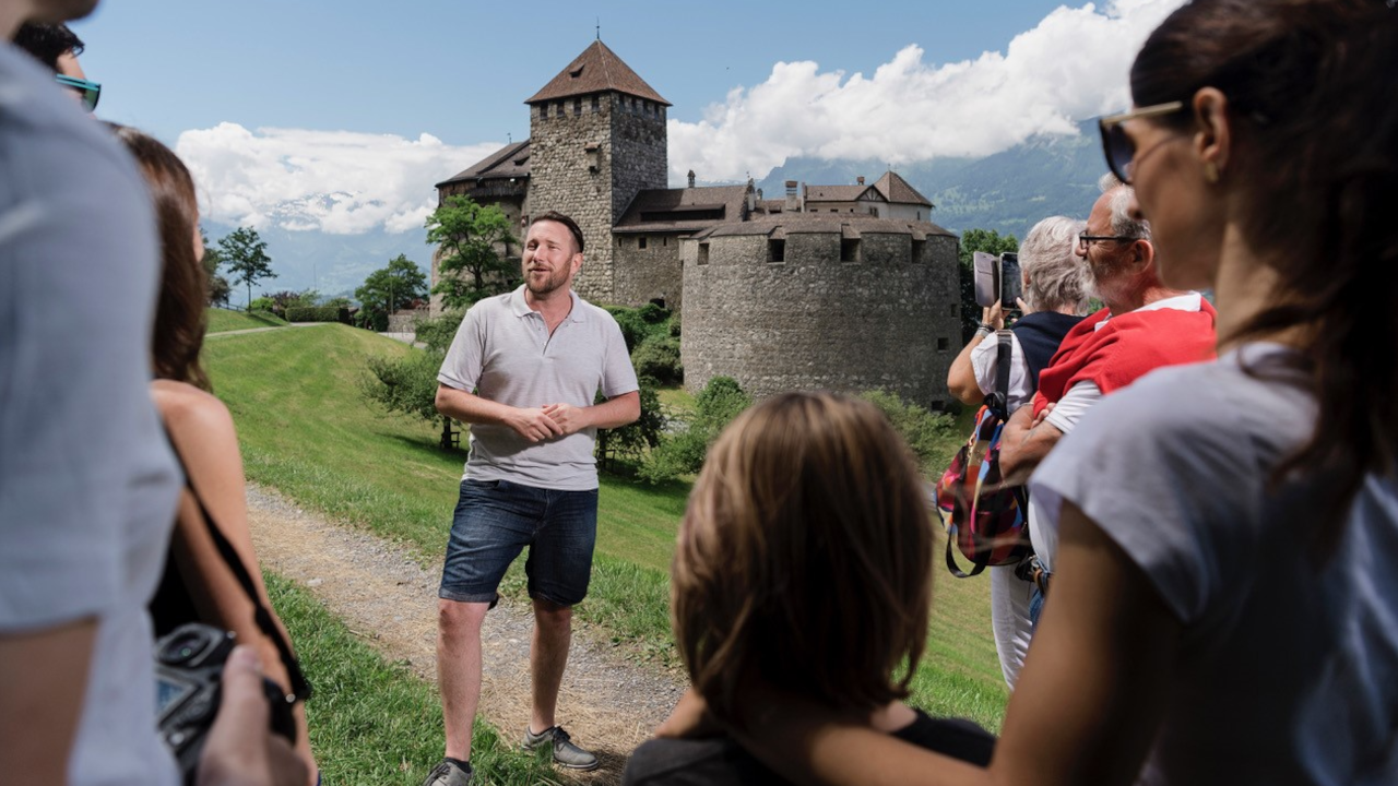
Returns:
[[[243,460],[228,408],[208,393],[183,383],[155,382],[152,394],[171,441],[185,462],[185,473],[203,498],[215,526],[242,559],[261,603],[271,611],[277,629],[291,642],[285,625],[273,610],[257,566],[257,552],[247,526]],[[189,490],[180,496],[179,516],[171,536],[171,555],[200,620],[232,631],[239,642],[254,645],[266,664],[267,677],[289,691],[291,676],[281,662],[277,645],[257,627],[252,599],[219,557]],[[296,720],[296,752],[310,769],[309,783],[315,785],[316,759],[310,752],[306,705],[298,702],[292,715]]]

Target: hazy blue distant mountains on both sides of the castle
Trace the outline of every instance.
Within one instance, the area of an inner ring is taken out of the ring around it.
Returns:
[[[773,169],[758,187],[766,199],[780,199],[786,180],[812,185],[851,185],[864,176],[872,183],[886,169],[878,161],[823,161],[793,158]],[[1096,122],[1079,126],[1079,134],[1040,136],[986,158],[937,158],[896,168],[909,183],[935,204],[932,221],[952,232],[995,229],[1001,235],[1023,239],[1040,218],[1071,215],[1086,218],[1097,199],[1097,179],[1106,172],[1097,143]],[[719,183],[706,183],[719,185]],[[432,249],[426,229],[390,234],[383,229],[362,235],[331,235],[315,229],[317,210],[329,207],[344,194],[316,194],[284,203],[273,211],[277,225],[261,229],[275,280],[254,290],[275,292],[315,287],[323,295],[354,296],[366,276],[384,267],[390,259],[407,255],[426,271]],[[210,242],[233,227],[206,222]],[[233,288],[233,303],[246,295]]]

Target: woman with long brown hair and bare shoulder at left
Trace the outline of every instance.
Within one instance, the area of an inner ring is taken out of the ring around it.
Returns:
[[[256,622],[252,599],[219,557],[206,523],[206,516],[212,519],[211,523],[252,579],[263,608],[270,611],[271,601],[247,527],[243,464],[233,420],[228,407],[210,393],[208,376],[200,365],[208,296],[207,276],[200,264],[204,243],[199,232],[194,180],[179,157],[158,140],[126,126],[112,127],[140,165],[155,206],[162,262],[151,345],[155,372],[151,397],[187,476],[165,575],[151,600],[155,635],[162,636],[194,621],[232,631],[238,641],[257,646],[268,678],[285,692],[305,698],[291,673],[294,657],[288,664],[274,636]],[[289,642],[277,614],[270,611],[268,615],[273,634]],[[292,715],[296,720],[296,752],[306,762],[309,783],[316,783],[305,703],[298,701]]]

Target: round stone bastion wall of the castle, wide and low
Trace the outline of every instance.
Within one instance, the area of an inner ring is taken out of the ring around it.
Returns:
[[[784,256],[769,262],[768,235],[681,241],[691,390],[724,375],[756,397],[882,387],[925,407],[948,401],[960,350],[956,238],[865,232],[860,260],[839,262],[837,231],[788,232]]]

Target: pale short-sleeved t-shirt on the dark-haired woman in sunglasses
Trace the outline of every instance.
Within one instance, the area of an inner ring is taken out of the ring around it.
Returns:
[[[1316,404],[1239,358],[1106,397],[1030,492],[1053,527],[1078,505],[1184,625],[1145,783],[1398,783],[1398,478],[1367,478],[1343,520],[1320,509],[1324,481],[1268,491]],[[1328,559],[1318,527],[1343,527]]]

